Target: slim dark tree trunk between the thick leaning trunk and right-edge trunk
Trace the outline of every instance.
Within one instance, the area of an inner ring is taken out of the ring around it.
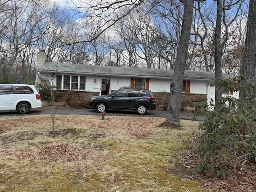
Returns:
[[[222,49],[220,44],[220,33],[222,23],[222,0],[217,0],[217,18],[214,34],[214,62],[215,62],[215,78],[222,77],[221,62],[222,62]],[[222,97],[220,89],[215,89],[215,101]]]

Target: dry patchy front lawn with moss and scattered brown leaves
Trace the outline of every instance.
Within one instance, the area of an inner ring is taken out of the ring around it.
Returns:
[[[198,122],[56,115],[0,117],[1,192],[205,192],[182,170]]]

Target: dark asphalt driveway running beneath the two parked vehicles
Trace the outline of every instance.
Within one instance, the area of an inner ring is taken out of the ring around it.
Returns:
[[[28,114],[19,114],[17,111],[0,111],[0,116],[24,116],[24,115],[47,115],[51,114],[51,109],[31,109]],[[99,115],[102,114],[97,113],[95,109],[68,109],[68,108],[57,108],[56,114],[59,115]],[[142,116],[138,115],[134,111],[116,111],[116,110],[108,110],[106,112],[106,116]],[[167,112],[159,112],[159,111],[148,111],[146,115],[148,117],[163,117],[165,118]],[[192,114],[180,114],[180,119],[192,120]],[[196,120],[203,121],[204,117],[198,116]]]

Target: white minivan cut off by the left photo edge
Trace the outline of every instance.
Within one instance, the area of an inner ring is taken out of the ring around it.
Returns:
[[[27,114],[31,108],[42,107],[40,94],[34,85],[0,84],[0,110],[17,110]]]

